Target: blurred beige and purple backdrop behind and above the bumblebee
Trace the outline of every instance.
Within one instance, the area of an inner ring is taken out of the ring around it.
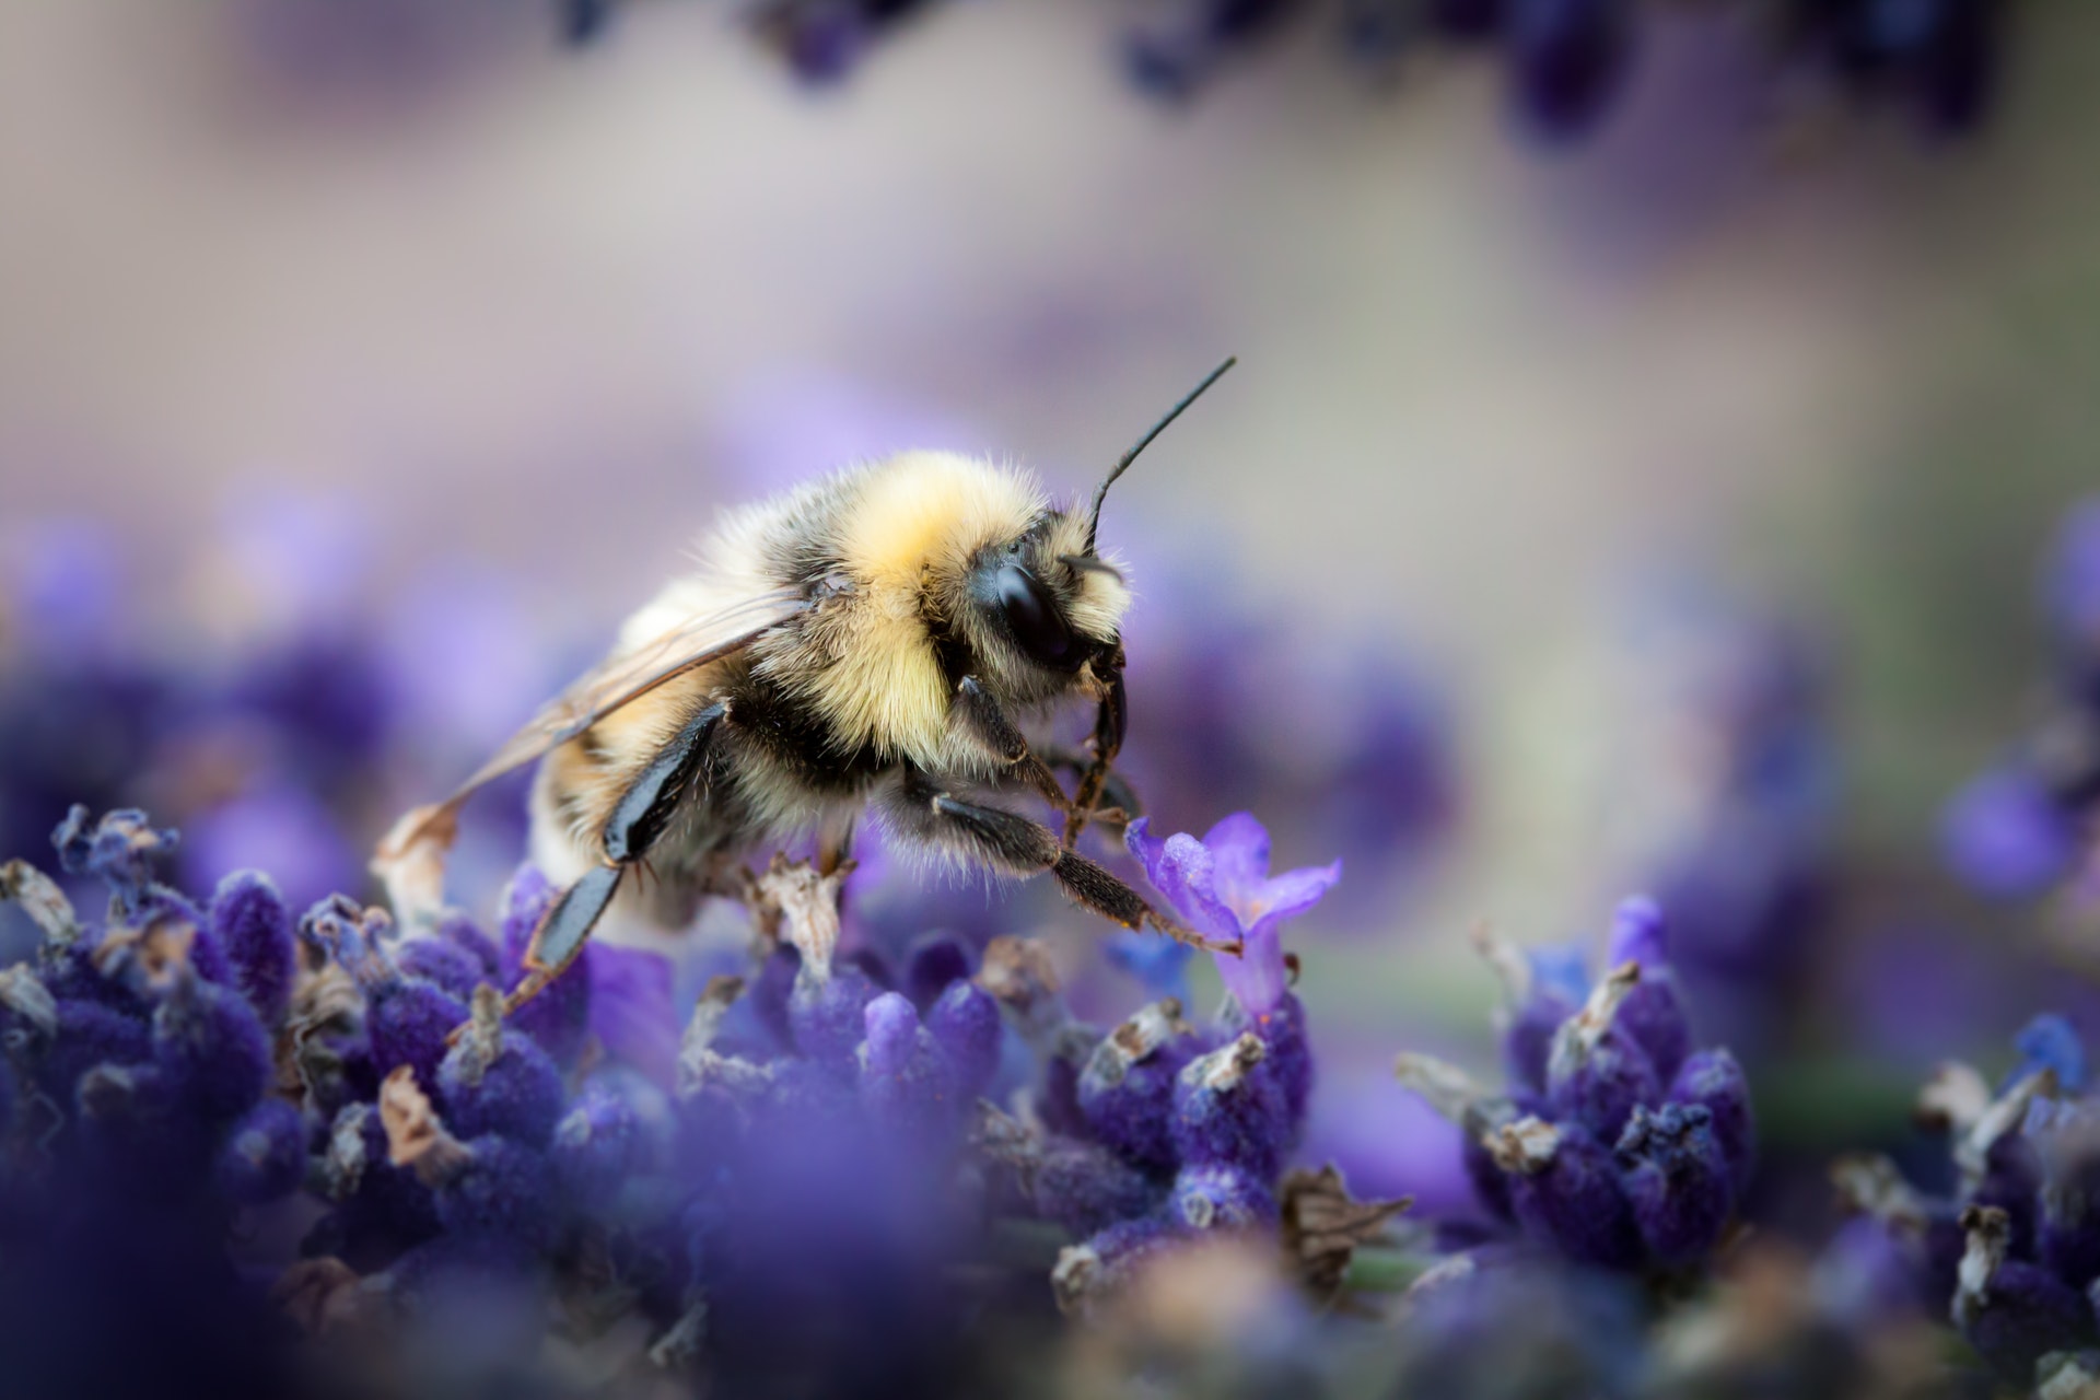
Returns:
[[[1348,863],[1308,1154],[1460,1201],[1392,1052],[1487,1064],[1468,932],[1594,955],[1642,888],[1804,1163],[2100,1007],[1940,858],[2094,479],[2100,13],[2020,6],[1959,141],[1659,13],[1569,147],[1310,21],[1153,101],[1140,10],[934,6],[808,84],[706,2],[0,8],[0,854],[143,802],[191,886],[372,894],[716,506],[909,445],[1082,491],[1239,353],[1102,533],[1157,825]],[[489,798],[458,894],[519,842]]]

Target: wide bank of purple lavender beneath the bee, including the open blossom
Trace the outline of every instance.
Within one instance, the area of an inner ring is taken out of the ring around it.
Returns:
[[[292,1320],[323,1345],[443,1327],[475,1364],[546,1316],[607,1383],[943,1394],[970,1364],[956,1270],[1000,1217],[1082,1240],[1052,1274],[1082,1310],[1180,1243],[1283,1230],[1312,1064],[1279,924],[1340,869],[1270,877],[1250,816],[1132,831],[1180,915],[1247,955],[1216,1028],[1161,1001],[1107,1035],[1029,940],[842,955],[844,877],[785,858],[748,896],[748,976],[689,1014],[668,959],[594,942],[506,1020],[554,896],[531,867],[496,932],[397,928],[340,894],[294,915],[254,871],[191,900],[136,810],[76,806],[52,840],[109,913],[0,867],[42,936],[0,970],[10,1394],[290,1385]],[[284,1230],[279,1257],[242,1249]],[[97,1329],[181,1348],[107,1356]],[[332,1356],[351,1392],[376,1375]]]

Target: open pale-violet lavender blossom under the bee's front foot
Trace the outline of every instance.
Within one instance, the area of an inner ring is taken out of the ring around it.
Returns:
[[[1124,833],[1144,877],[1199,934],[1241,940],[1241,955],[1218,955],[1218,976],[1250,1016],[1273,1012],[1289,991],[1277,930],[1321,900],[1342,879],[1342,863],[1268,873],[1268,831],[1235,812],[1203,833],[1159,840],[1147,819]]]

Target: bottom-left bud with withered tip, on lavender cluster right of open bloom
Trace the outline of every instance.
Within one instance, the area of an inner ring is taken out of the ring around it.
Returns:
[[[1634,1268],[1640,1228],[1611,1152],[1579,1123],[1518,1119],[1489,1140],[1525,1230],[1577,1264]]]

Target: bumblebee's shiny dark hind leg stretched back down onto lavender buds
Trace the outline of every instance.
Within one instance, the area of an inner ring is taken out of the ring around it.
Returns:
[[[620,884],[649,848],[670,827],[687,791],[708,764],[708,745],[729,718],[729,705],[714,703],[687,720],[670,743],[628,783],[605,819],[598,835],[605,861],[561,892],[554,907],[540,919],[525,949],[525,976],[504,997],[504,1012],[514,1012],[552,982],[584,953],[590,930],[613,903]]]

